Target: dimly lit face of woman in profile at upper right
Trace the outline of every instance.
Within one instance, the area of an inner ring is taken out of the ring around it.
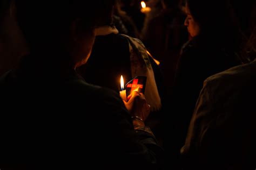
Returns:
[[[194,18],[192,17],[190,13],[190,9],[188,8],[188,5],[186,3],[186,19],[184,22],[184,25],[187,26],[187,31],[190,33],[191,37],[195,37],[199,34],[199,25],[197,22],[195,22]]]

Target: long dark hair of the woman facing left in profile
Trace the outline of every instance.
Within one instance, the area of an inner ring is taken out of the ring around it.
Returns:
[[[198,37],[231,51],[239,48],[239,26],[228,0],[213,0],[209,5],[205,0],[187,0],[186,3],[199,24]]]

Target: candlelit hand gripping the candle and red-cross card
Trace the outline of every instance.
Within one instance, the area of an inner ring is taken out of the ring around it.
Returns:
[[[150,113],[150,105],[147,104],[145,96],[138,91],[133,91],[132,94],[127,97],[127,100],[127,102],[124,101],[124,104],[131,116],[138,116],[142,118],[142,121],[145,121]]]

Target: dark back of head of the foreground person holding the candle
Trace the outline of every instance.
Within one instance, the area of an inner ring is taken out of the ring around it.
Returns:
[[[16,7],[18,24],[32,49],[57,46],[75,20],[80,29],[92,30],[100,22],[98,11],[104,8],[100,0],[16,0]]]

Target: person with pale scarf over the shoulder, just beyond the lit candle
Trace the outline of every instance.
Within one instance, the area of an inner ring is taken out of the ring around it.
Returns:
[[[105,9],[98,15],[103,21],[96,29],[96,40],[91,57],[78,68],[82,77],[91,84],[107,87],[119,93],[120,77],[125,83],[136,76],[146,76],[145,97],[150,104],[151,114],[146,124],[154,131],[158,139],[163,138],[163,76],[160,68],[139,39],[120,34],[113,25],[113,6],[115,1],[104,0]],[[92,6],[92,9],[98,8]]]

